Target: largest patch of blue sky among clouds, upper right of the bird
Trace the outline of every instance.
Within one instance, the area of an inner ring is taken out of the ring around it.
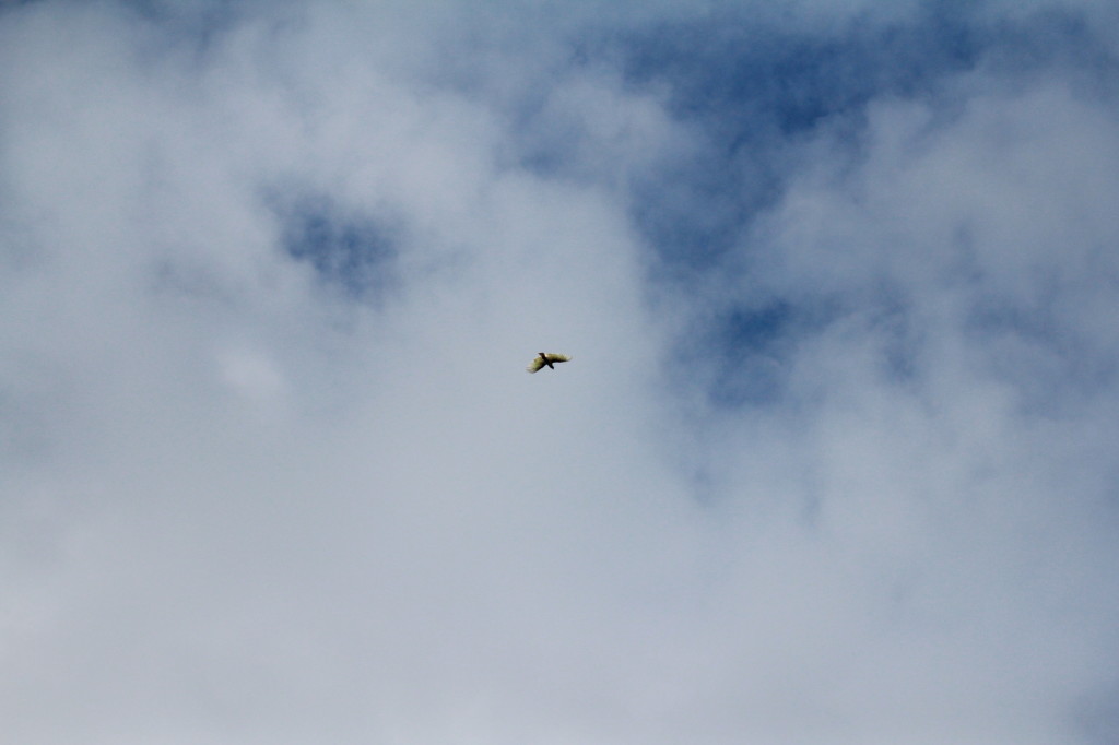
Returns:
[[[933,111],[951,110],[958,105],[952,83],[979,66],[1012,84],[1054,63],[1084,68],[1097,81],[1106,78],[1098,70],[1113,66],[1075,12],[993,25],[978,20],[971,6],[952,2],[928,3],[904,23],[852,23],[831,36],[723,18],[664,26],[622,44],[628,85],[667,91],[673,115],[706,143],[687,160],[669,153],[633,186],[634,223],[655,252],[653,276],[670,293],[693,293],[713,274],[749,273],[771,261],[753,255],[774,247],[750,241],[752,220],[780,201],[805,164],[801,145],[822,128],[840,149],[830,155],[857,162],[872,102],[919,98]],[[728,293],[722,308],[704,311],[706,330],[689,330],[679,359],[709,366],[712,402],[758,405],[782,395],[782,356],[796,339],[849,318],[855,303],[877,340],[883,378],[911,380],[921,324],[899,302],[904,289],[880,279],[885,285],[869,295],[857,285],[852,298],[833,296],[837,287],[814,294],[805,286],[796,298],[764,301],[745,296],[756,281],[742,282],[742,296]],[[814,320],[796,321],[806,318]],[[697,345],[702,352],[688,351]]]

